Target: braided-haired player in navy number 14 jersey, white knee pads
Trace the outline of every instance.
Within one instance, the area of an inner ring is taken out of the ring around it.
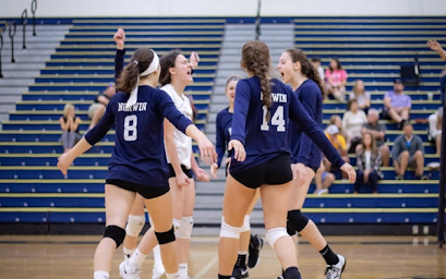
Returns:
[[[237,259],[239,236],[246,210],[261,189],[266,239],[275,248],[286,279],[301,278],[297,253],[287,233],[290,167],[287,122],[300,123],[302,130],[320,146],[334,165],[355,179],[354,169],[346,163],[329,144],[322,129],[304,111],[294,93],[282,82],[270,78],[268,47],[249,41],[242,48],[241,65],[249,78],[239,81],[236,89],[232,135],[228,149],[233,149],[225,189],[219,242],[218,277],[230,279]]]

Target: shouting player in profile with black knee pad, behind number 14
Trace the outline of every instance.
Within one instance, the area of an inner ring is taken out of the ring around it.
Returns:
[[[277,65],[282,81],[291,84],[292,89],[301,101],[309,116],[322,126],[323,84],[311,61],[300,49],[285,51]],[[310,184],[321,165],[321,150],[302,133],[301,125],[289,122],[289,142],[291,148],[291,168],[304,173],[303,180],[292,180],[290,203],[287,217],[287,230],[292,236],[299,232],[324,257],[327,268],[327,279],[339,279],[346,266],[346,259],[335,254],[321,234],[316,225],[302,215],[301,209],[305,202]]]

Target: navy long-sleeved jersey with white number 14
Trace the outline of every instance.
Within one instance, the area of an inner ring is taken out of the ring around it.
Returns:
[[[239,81],[236,88],[234,112],[231,140],[240,141],[245,148],[243,162],[232,158],[230,172],[237,173],[264,163],[280,154],[290,155],[288,143],[289,119],[299,123],[302,130],[337,167],[343,165],[322,129],[306,113],[297,95],[282,82],[270,81],[273,106],[270,120],[266,122],[267,108],[262,102],[261,84],[256,76]]]

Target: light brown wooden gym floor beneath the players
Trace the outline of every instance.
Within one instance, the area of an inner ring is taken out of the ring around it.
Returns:
[[[93,254],[99,235],[0,235],[0,278],[93,278]],[[446,247],[432,236],[330,236],[332,248],[346,256],[342,279],[439,279],[446,278]],[[191,279],[217,278],[217,238],[193,238]],[[303,279],[322,279],[325,263],[306,242],[298,244]],[[261,264],[250,269],[250,278],[276,279],[280,266],[266,245]],[[122,248],[114,255],[111,278],[120,278]],[[152,276],[148,255],[142,279]]]

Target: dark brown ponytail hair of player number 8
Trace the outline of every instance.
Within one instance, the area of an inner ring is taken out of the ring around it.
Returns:
[[[130,94],[136,86],[138,74],[143,73],[154,60],[154,52],[148,48],[136,49],[129,64],[117,80],[117,90]]]

